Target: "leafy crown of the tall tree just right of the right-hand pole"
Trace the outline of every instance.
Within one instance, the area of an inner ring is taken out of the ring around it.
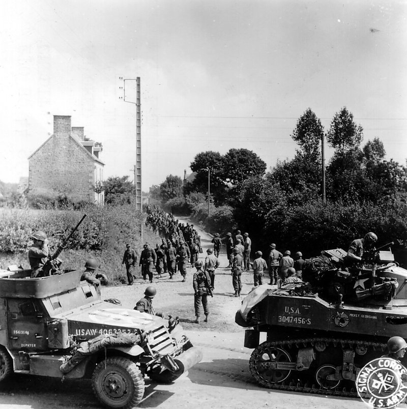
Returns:
[[[346,150],[358,148],[363,138],[363,128],[355,124],[353,113],[343,107],[336,112],[327,133],[327,140],[331,146],[342,154]]]

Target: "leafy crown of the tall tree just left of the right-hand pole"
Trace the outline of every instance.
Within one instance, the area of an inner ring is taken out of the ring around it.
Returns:
[[[323,135],[324,127],[321,120],[317,118],[311,108],[308,108],[297,121],[291,137],[300,145],[306,157],[318,158]]]

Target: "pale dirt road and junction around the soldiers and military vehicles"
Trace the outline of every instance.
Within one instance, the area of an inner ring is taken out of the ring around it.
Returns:
[[[211,245],[211,236],[200,231],[203,253]],[[158,237],[146,232],[148,240],[155,244]],[[210,322],[194,324],[192,269],[186,282],[180,275],[169,280],[157,279],[156,310],[179,315],[192,343],[203,352],[200,363],[191,368],[171,385],[157,385],[146,378],[146,394],[139,407],[142,408],[330,408],[359,409],[366,407],[362,401],[323,395],[271,391],[257,386],[249,372],[251,349],[243,347],[244,330],[234,322],[235,312],[241,299],[234,293],[230,270],[225,254],[220,256],[221,268],[217,270],[214,298],[210,299]],[[223,266],[223,268],[222,268]],[[244,274],[243,296],[252,286],[252,275]],[[141,298],[148,283],[138,280],[133,286],[107,287],[103,298],[118,298],[124,307],[133,308]],[[47,408],[99,408],[89,381],[55,381],[48,378],[15,376],[0,388],[0,409],[47,409]]]

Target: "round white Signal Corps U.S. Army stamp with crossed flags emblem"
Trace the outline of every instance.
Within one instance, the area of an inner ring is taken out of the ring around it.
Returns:
[[[407,369],[393,358],[377,358],[358,373],[356,388],[360,398],[374,409],[389,409],[403,402],[407,386],[402,375]]]

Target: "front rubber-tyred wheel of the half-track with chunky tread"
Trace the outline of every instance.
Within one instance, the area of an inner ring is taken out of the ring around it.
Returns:
[[[144,379],[133,361],[108,358],[96,366],[92,388],[103,405],[128,409],[138,405],[143,398]]]

